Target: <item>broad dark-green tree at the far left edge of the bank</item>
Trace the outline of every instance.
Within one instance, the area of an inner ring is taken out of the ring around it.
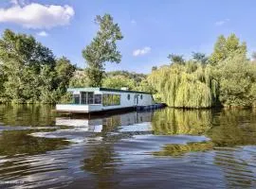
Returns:
[[[14,102],[39,100],[39,79],[42,68],[53,69],[52,52],[32,36],[5,30],[0,40],[0,61],[3,62],[6,96]]]

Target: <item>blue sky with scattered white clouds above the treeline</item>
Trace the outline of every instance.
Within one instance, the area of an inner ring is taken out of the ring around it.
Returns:
[[[256,51],[255,0],[0,0],[0,33],[6,28],[33,35],[56,57],[84,68],[82,49],[96,34],[96,15],[110,13],[124,36],[119,64],[106,70],[150,73],[169,54],[190,59],[210,55],[217,37],[235,33]]]

